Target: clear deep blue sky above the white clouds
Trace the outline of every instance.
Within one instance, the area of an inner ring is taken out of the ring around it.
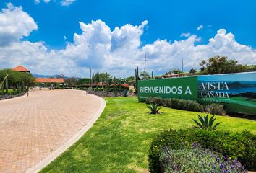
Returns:
[[[256,1],[152,1],[94,0],[74,1],[61,6],[60,1],[35,4],[33,0],[4,1],[22,6],[38,24],[28,40],[44,40],[52,48],[64,48],[64,35],[72,41],[74,32],[81,32],[78,22],[101,19],[114,30],[127,23],[140,25],[148,20],[142,43],[157,39],[181,40],[182,32],[190,32],[208,42],[216,30],[225,28],[236,35],[236,41],[256,47]],[[5,3],[1,1],[1,8]],[[203,30],[196,31],[199,25]]]

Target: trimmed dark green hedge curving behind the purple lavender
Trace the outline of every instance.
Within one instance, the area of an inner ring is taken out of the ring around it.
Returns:
[[[256,136],[245,130],[242,133],[230,133],[218,130],[169,130],[160,133],[150,145],[148,156],[150,172],[161,172],[159,156],[163,146],[172,149],[190,148],[200,143],[202,148],[238,159],[246,169],[256,170]]]

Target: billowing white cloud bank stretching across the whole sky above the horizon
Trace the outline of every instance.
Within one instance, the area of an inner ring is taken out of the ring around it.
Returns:
[[[24,15],[17,15],[14,9],[20,10],[19,14]],[[1,14],[5,14],[5,11],[12,13],[9,14],[12,16],[10,23],[17,20],[27,21],[27,18],[31,18],[21,8],[8,7],[2,11]],[[31,19],[30,21],[33,21]],[[74,33],[73,41],[67,42],[66,48],[61,50],[48,50],[43,42],[23,41],[22,37],[29,35],[37,27],[29,27],[28,30],[27,25],[20,25],[20,30],[26,32],[15,34],[17,35],[15,39],[10,39],[9,37],[14,36],[9,34],[0,45],[0,68],[23,65],[37,74],[88,76],[87,67],[90,66],[93,71],[108,71],[114,76],[128,76],[134,74],[136,66],[143,68],[145,54],[148,58],[147,70],[156,73],[168,71],[170,68],[181,68],[182,58],[184,58],[185,70],[198,68],[202,59],[216,55],[229,56],[239,63],[256,63],[256,50],[237,43],[234,35],[224,29],[218,30],[206,44],[198,45],[200,38],[197,35],[189,35],[184,40],[176,40],[172,43],[168,40],[155,40],[154,43],[142,46],[140,37],[148,21],[140,25],[127,24],[114,30],[101,20],[88,24],[79,22],[79,24],[82,33]],[[9,27],[9,25],[0,26],[2,26],[1,30],[7,30]]]

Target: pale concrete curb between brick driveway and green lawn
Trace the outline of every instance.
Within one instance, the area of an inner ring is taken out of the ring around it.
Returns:
[[[98,112],[95,113],[95,117],[93,117],[93,119],[90,120],[85,126],[83,126],[82,129],[77,134],[75,134],[72,138],[69,139],[69,141],[67,141],[61,147],[56,149],[56,151],[46,156],[45,159],[40,161],[34,167],[27,169],[26,171],[27,173],[39,172],[41,169],[46,167],[48,164],[51,163],[51,161],[54,161],[54,159],[56,159],[59,155],[61,155],[64,151],[66,151],[70,146],[72,146],[75,142],[77,142],[93,126],[96,120],[98,120],[98,117],[101,116],[101,113],[106,107],[106,101],[101,97],[98,97],[92,94],[88,94],[88,95],[96,97],[97,99],[101,99],[101,108],[100,110],[98,110]]]

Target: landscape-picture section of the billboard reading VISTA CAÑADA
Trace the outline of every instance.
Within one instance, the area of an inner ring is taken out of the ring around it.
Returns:
[[[221,103],[229,111],[256,115],[256,73],[198,76],[198,101]]]

